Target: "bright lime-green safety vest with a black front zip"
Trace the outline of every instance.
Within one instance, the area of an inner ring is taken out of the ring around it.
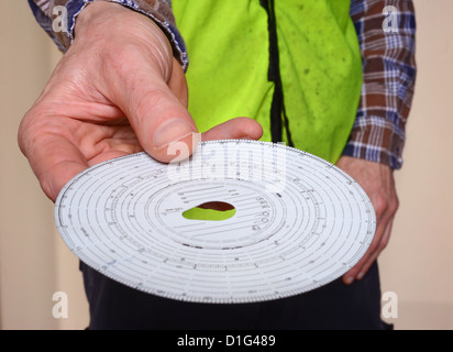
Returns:
[[[270,14],[263,6],[270,1],[173,0],[190,61],[189,112],[200,132],[248,117],[262,124],[262,140],[273,140],[277,85],[269,80]],[[273,8],[285,110],[281,141],[288,143],[290,135],[295,147],[331,163],[347,142],[362,87],[349,11],[349,0],[275,0]]]

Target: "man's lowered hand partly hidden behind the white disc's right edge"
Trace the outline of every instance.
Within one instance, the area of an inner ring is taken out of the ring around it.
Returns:
[[[368,195],[376,211],[376,233],[374,240],[361,261],[343,276],[345,284],[361,279],[386,248],[390,238],[391,226],[398,209],[394,172],[390,167],[365,160],[342,156],[336,163],[341,169],[351,175]]]

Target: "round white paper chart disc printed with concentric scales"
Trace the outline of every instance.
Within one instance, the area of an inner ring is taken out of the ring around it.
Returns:
[[[207,202],[235,212],[184,216]],[[139,153],[92,166],[60,191],[55,219],[68,248],[106,276],[166,298],[220,304],[328,284],[358,262],[376,227],[366,194],[338,167],[242,140],[202,142],[169,165]]]

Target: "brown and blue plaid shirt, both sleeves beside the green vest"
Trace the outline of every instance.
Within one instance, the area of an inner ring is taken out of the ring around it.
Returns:
[[[33,13],[58,47],[65,52],[71,41],[75,19],[97,0],[29,0]],[[175,57],[187,69],[188,57],[177,31],[170,0],[107,0],[121,3],[152,18],[169,38]],[[67,10],[67,31],[53,25]],[[416,18],[411,0],[352,0],[351,18],[357,32],[363,61],[363,87],[355,123],[343,155],[382,163],[398,169],[402,165],[405,128],[416,80]]]

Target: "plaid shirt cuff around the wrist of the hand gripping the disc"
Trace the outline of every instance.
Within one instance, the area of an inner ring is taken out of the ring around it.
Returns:
[[[172,43],[174,56],[183,68],[187,69],[187,50],[176,28],[172,0],[29,0],[29,4],[40,25],[58,48],[66,52],[74,41],[77,15],[85,7],[95,1],[115,2],[154,20]],[[62,19],[64,25],[62,25]]]

